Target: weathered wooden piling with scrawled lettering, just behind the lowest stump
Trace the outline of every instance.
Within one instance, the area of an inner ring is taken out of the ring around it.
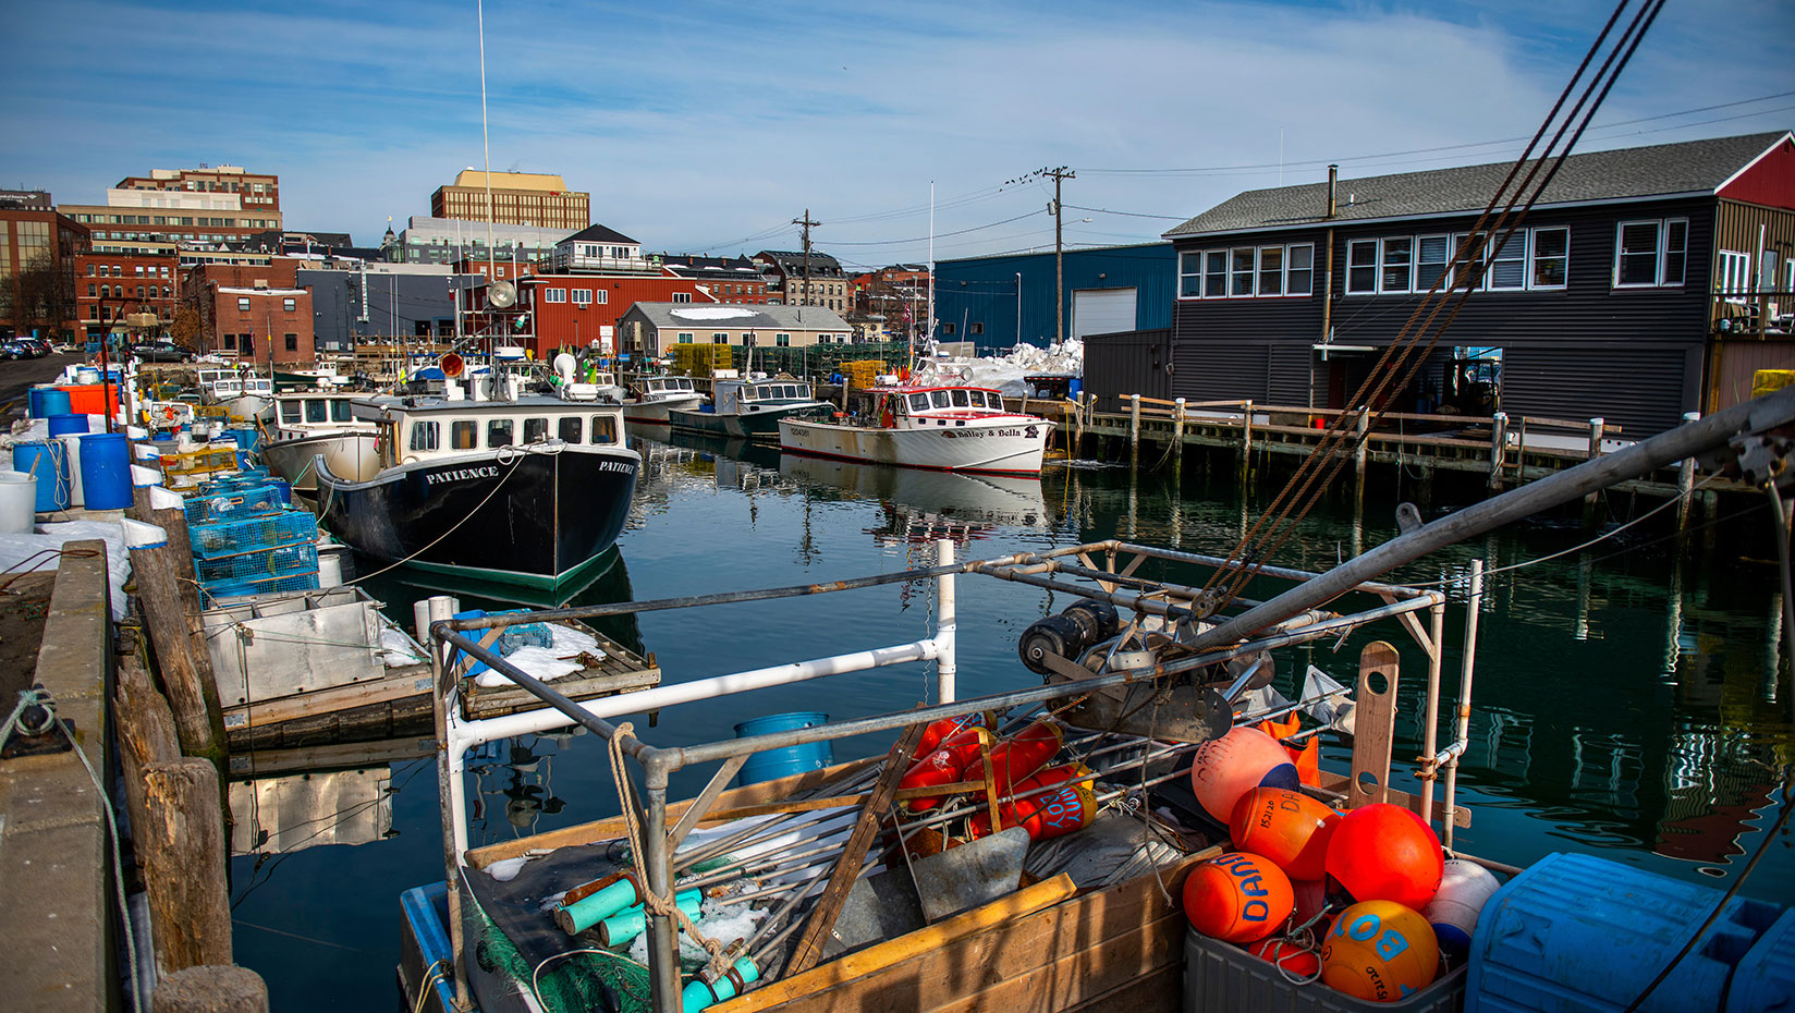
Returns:
[[[196,756],[151,763],[144,796],[147,817],[133,830],[158,972],[232,963],[217,769]]]

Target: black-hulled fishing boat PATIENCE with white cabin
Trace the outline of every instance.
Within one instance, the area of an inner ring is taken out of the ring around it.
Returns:
[[[355,551],[492,580],[556,586],[598,566],[617,539],[641,456],[623,410],[521,393],[519,377],[476,377],[474,399],[354,401],[373,426],[370,476],[312,458],[320,515]],[[501,397],[492,397],[499,393]]]

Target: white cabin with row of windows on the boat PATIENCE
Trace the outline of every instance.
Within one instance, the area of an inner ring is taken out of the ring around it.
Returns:
[[[354,413],[375,426],[382,469],[556,440],[564,445],[623,444],[621,408],[556,397],[372,399],[355,401]]]

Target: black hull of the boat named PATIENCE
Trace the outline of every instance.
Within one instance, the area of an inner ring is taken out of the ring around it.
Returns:
[[[350,548],[382,560],[454,568],[490,580],[578,580],[630,515],[641,456],[564,447],[434,458],[343,481],[314,458],[320,515]]]

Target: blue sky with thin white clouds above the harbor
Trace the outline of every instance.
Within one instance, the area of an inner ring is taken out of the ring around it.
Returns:
[[[1149,242],[1230,196],[1513,158],[1612,5],[1585,0],[486,0],[495,171],[560,172],[648,251],[849,266]],[[476,0],[0,0],[0,187],[278,172],[372,244],[479,167]],[[1795,126],[1795,4],[1669,0],[1583,149]],[[933,226],[930,192],[933,189]],[[1090,221],[1084,221],[1090,219]]]

